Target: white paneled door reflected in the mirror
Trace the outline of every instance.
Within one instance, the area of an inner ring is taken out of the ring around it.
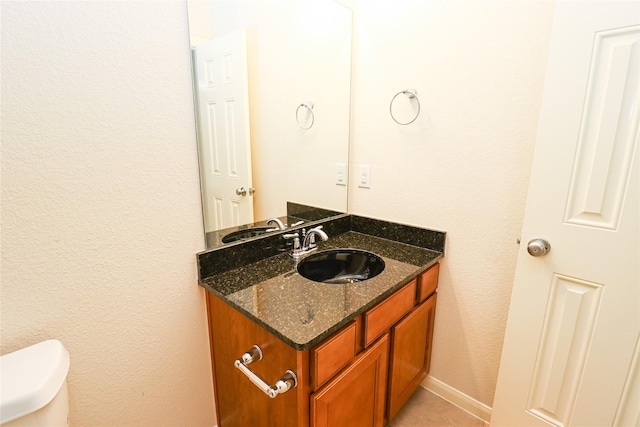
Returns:
[[[193,51],[205,232],[253,222],[246,51],[242,31]]]

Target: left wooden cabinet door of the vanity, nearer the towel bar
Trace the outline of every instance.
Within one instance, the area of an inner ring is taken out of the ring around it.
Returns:
[[[311,396],[311,426],[384,425],[389,335]]]

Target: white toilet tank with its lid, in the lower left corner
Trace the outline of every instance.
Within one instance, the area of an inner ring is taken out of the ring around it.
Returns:
[[[0,425],[68,426],[69,352],[58,340],[0,356]]]

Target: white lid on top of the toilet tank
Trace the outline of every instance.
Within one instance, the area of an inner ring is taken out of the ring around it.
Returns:
[[[0,356],[0,424],[46,406],[67,379],[69,352],[47,340]]]

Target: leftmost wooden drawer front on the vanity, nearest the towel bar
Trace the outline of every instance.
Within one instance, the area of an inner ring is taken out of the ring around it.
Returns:
[[[356,355],[356,322],[352,322],[313,350],[312,387],[317,389],[342,369]]]

